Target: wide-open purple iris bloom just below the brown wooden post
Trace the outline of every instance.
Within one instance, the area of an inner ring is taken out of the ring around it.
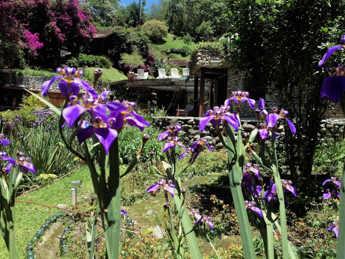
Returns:
[[[208,110],[204,114],[204,118],[200,118],[199,128],[200,132],[203,132],[206,128],[207,123],[212,123],[214,127],[220,126],[221,120],[227,121],[236,131],[238,130],[239,121],[235,114],[230,113],[230,106],[218,106],[214,107],[213,110]]]

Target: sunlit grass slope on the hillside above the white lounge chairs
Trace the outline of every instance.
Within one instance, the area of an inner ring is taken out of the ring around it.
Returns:
[[[167,38],[163,38],[161,42],[149,44],[152,52],[157,57],[161,57],[163,55],[164,58],[166,59],[168,58],[166,51],[170,51],[171,48],[176,48],[176,49],[182,48],[183,45],[185,45],[183,40],[179,39],[176,36],[176,40],[172,41],[172,37],[174,36],[175,36],[174,34],[168,33]],[[189,47],[192,47],[193,45],[195,45],[195,43],[191,42],[191,44],[189,44]],[[169,54],[169,57],[173,59],[187,58],[187,57],[183,57],[181,54]]]

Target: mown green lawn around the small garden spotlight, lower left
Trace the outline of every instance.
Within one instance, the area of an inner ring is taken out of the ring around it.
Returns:
[[[78,188],[77,199],[78,203],[81,205],[81,208],[78,208],[78,210],[84,211],[88,207],[90,197],[94,195],[91,176],[87,166],[77,169],[75,172],[59,181],[50,183],[41,189],[22,196],[20,200],[31,200],[50,206],[68,204],[68,208],[71,209],[70,188],[67,188],[65,183],[77,180],[83,181],[81,188]],[[25,248],[27,243],[32,239],[41,225],[59,211],[60,210],[50,209],[41,205],[16,202],[16,245],[21,258],[26,258]],[[2,237],[0,238],[0,258],[9,258]]]

